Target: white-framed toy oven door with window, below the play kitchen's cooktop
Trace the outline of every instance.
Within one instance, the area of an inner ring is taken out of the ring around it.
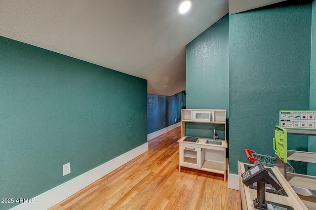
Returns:
[[[201,148],[180,145],[180,165],[184,167],[201,168]]]

